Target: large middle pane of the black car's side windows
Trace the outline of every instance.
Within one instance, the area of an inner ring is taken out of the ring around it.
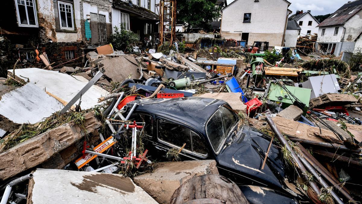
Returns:
[[[164,141],[171,143],[177,147],[182,147],[185,143],[185,150],[191,150],[191,130],[181,125],[165,121],[163,119],[157,120],[157,137]]]

